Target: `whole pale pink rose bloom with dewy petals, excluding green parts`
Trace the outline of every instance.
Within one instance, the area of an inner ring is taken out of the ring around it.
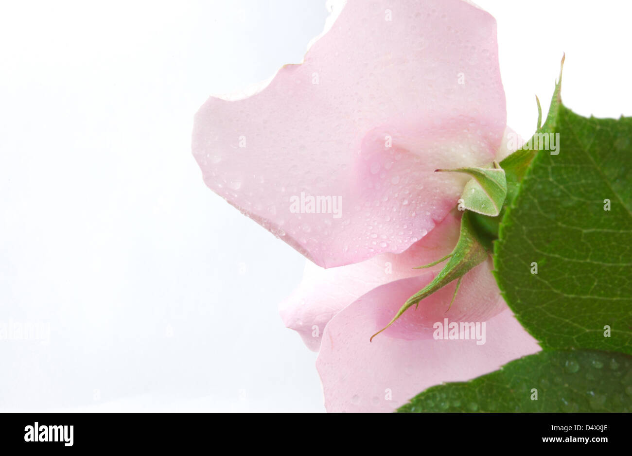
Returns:
[[[283,304],[319,352],[328,411],[392,411],[442,381],[539,350],[499,296],[491,261],[409,309],[449,253],[467,178],[435,169],[506,155],[495,20],[462,0],[349,0],[303,64],[195,116],[205,183],[308,264]],[[485,322],[485,340],[435,340],[435,323]],[[480,342],[480,341],[478,341]]]

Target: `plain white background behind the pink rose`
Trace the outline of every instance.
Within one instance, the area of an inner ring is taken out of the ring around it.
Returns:
[[[397,0],[393,0],[394,4]],[[623,1],[480,0],[507,123],[632,115]],[[279,302],[305,260],[214,195],[192,118],[300,63],[324,0],[0,2],[0,410],[323,411]]]

